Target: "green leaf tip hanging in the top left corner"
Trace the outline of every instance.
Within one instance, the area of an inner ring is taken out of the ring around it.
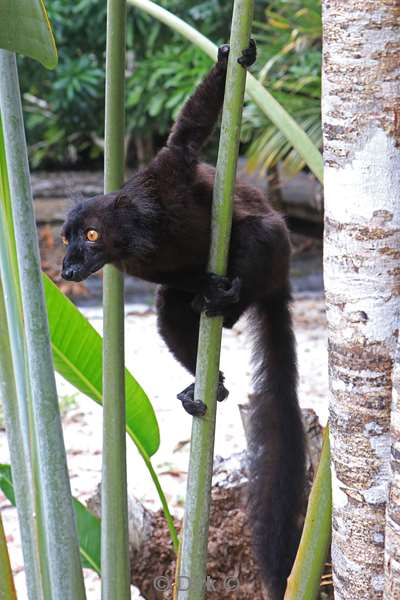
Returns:
[[[19,52],[54,69],[57,48],[42,0],[1,0],[0,48]]]

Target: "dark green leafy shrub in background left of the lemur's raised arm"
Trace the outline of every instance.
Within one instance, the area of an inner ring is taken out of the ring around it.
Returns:
[[[227,39],[231,5],[163,0],[163,6],[216,41]],[[20,73],[34,168],[102,158],[106,3],[53,0],[49,17],[59,66],[45,71],[29,60]],[[127,123],[134,136],[163,135],[210,66],[204,55],[140,11],[128,11]]]

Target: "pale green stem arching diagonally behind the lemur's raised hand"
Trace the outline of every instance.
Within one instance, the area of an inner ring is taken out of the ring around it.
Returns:
[[[217,58],[217,47],[208,38],[196,31],[185,21],[176,17],[165,8],[151,2],[151,0],[127,0],[132,6],[149,13],[180,35],[183,35],[198,48],[203,50],[214,61]],[[318,148],[313,144],[304,130],[286,112],[286,110],[275,100],[275,98],[262,86],[262,84],[250,73],[247,76],[246,92],[257,104],[258,108],[282,131],[292,146],[297,150],[305,163],[322,182],[323,161]]]

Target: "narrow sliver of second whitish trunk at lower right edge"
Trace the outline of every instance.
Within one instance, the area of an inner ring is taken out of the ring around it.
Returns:
[[[391,419],[392,480],[386,507],[385,600],[400,598],[400,346],[393,371]]]

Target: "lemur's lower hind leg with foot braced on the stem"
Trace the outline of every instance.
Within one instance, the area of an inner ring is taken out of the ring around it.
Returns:
[[[169,286],[161,286],[157,293],[158,329],[175,358],[193,375],[196,370],[199,315],[191,308],[193,294]],[[224,400],[228,391],[220,373],[217,400]],[[178,394],[184,409],[191,415],[201,416],[206,406],[194,398],[194,385]]]

